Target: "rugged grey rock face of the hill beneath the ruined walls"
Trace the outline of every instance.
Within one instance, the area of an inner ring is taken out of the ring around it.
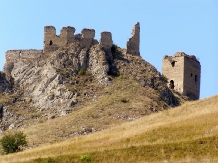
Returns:
[[[33,60],[20,58],[11,74],[0,73],[1,129],[25,127],[82,109],[102,96],[101,90],[117,77],[155,90],[165,103],[159,110],[179,105],[166,79],[140,56],[115,45],[103,47],[96,40],[89,46],[73,42]]]

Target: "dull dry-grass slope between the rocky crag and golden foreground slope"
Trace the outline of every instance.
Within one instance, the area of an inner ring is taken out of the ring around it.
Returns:
[[[163,106],[169,107],[157,91],[123,77],[118,77],[111,86],[102,87],[96,96],[95,99],[84,100],[84,105],[75,107],[71,114],[48,121],[42,117],[35,119],[36,125],[24,129],[29,146],[53,144],[85,135],[92,132],[92,128],[102,131],[163,110]],[[79,100],[83,100],[81,96]]]

